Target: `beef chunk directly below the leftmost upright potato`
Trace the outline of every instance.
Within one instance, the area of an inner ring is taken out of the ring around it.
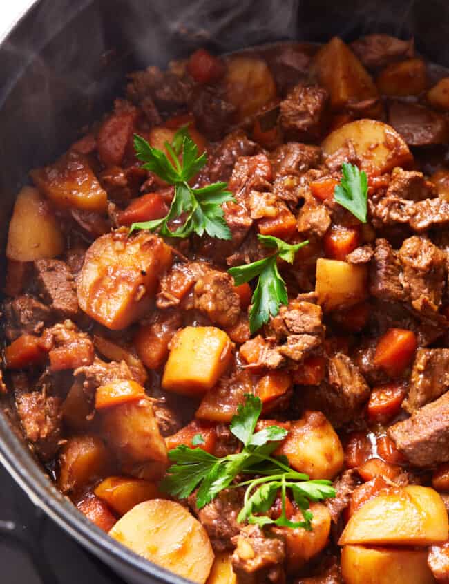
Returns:
[[[61,260],[35,261],[39,295],[61,317],[73,318],[78,312],[78,299],[73,274]]]

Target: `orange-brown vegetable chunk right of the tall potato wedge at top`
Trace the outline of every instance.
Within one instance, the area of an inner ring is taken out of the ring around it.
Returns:
[[[426,91],[426,62],[423,59],[408,59],[390,63],[379,73],[376,85],[380,93],[390,97],[419,95]]]

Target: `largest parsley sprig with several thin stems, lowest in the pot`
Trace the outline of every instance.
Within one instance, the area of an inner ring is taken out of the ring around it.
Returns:
[[[287,437],[287,430],[280,426],[269,426],[255,433],[262,411],[262,402],[252,394],[245,395],[245,404],[231,421],[231,432],[242,442],[242,451],[222,458],[206,451],[188,446],[178,446],[169,451],[173,464],[160,484],[160,489],[180,499],[188,497],[195,489],[198,509],[207,505],[222,489],[246,486],[244,505],[238,514],[238,522],[257,525],[283,525],[312,529],[310,501],[320,501],[335,496],[329,480],[309,480],[288,466],[285,457],[273,455],[279,442]],[[235,482],[241,475],[256,475],[256,478]],[[292,522],[286,514],[287,489],[303,514],[303,521]],[[267,516],[278,493],[282,502],[280,517]]]

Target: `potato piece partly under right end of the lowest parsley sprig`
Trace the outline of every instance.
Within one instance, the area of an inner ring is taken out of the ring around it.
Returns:
[[[287,572],[295,574],[311,558],[324,549],[329,540],[331,518],[329,509],[323,503],[311,503],[310,511],[314,514],[312,531],[303,527],[282,527],[285,537],[285,552],[287,556]],[[291,521],[303,521],[303,514],[297,511]]]

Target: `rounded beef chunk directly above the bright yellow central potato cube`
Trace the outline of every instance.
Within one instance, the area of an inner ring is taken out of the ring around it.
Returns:
[[[234,290],[232,276],[210,270],[198,279],[193,294],[195,308],[207,314],[213,323],[223,328],[236,324],[240,314],[240,298]]]

